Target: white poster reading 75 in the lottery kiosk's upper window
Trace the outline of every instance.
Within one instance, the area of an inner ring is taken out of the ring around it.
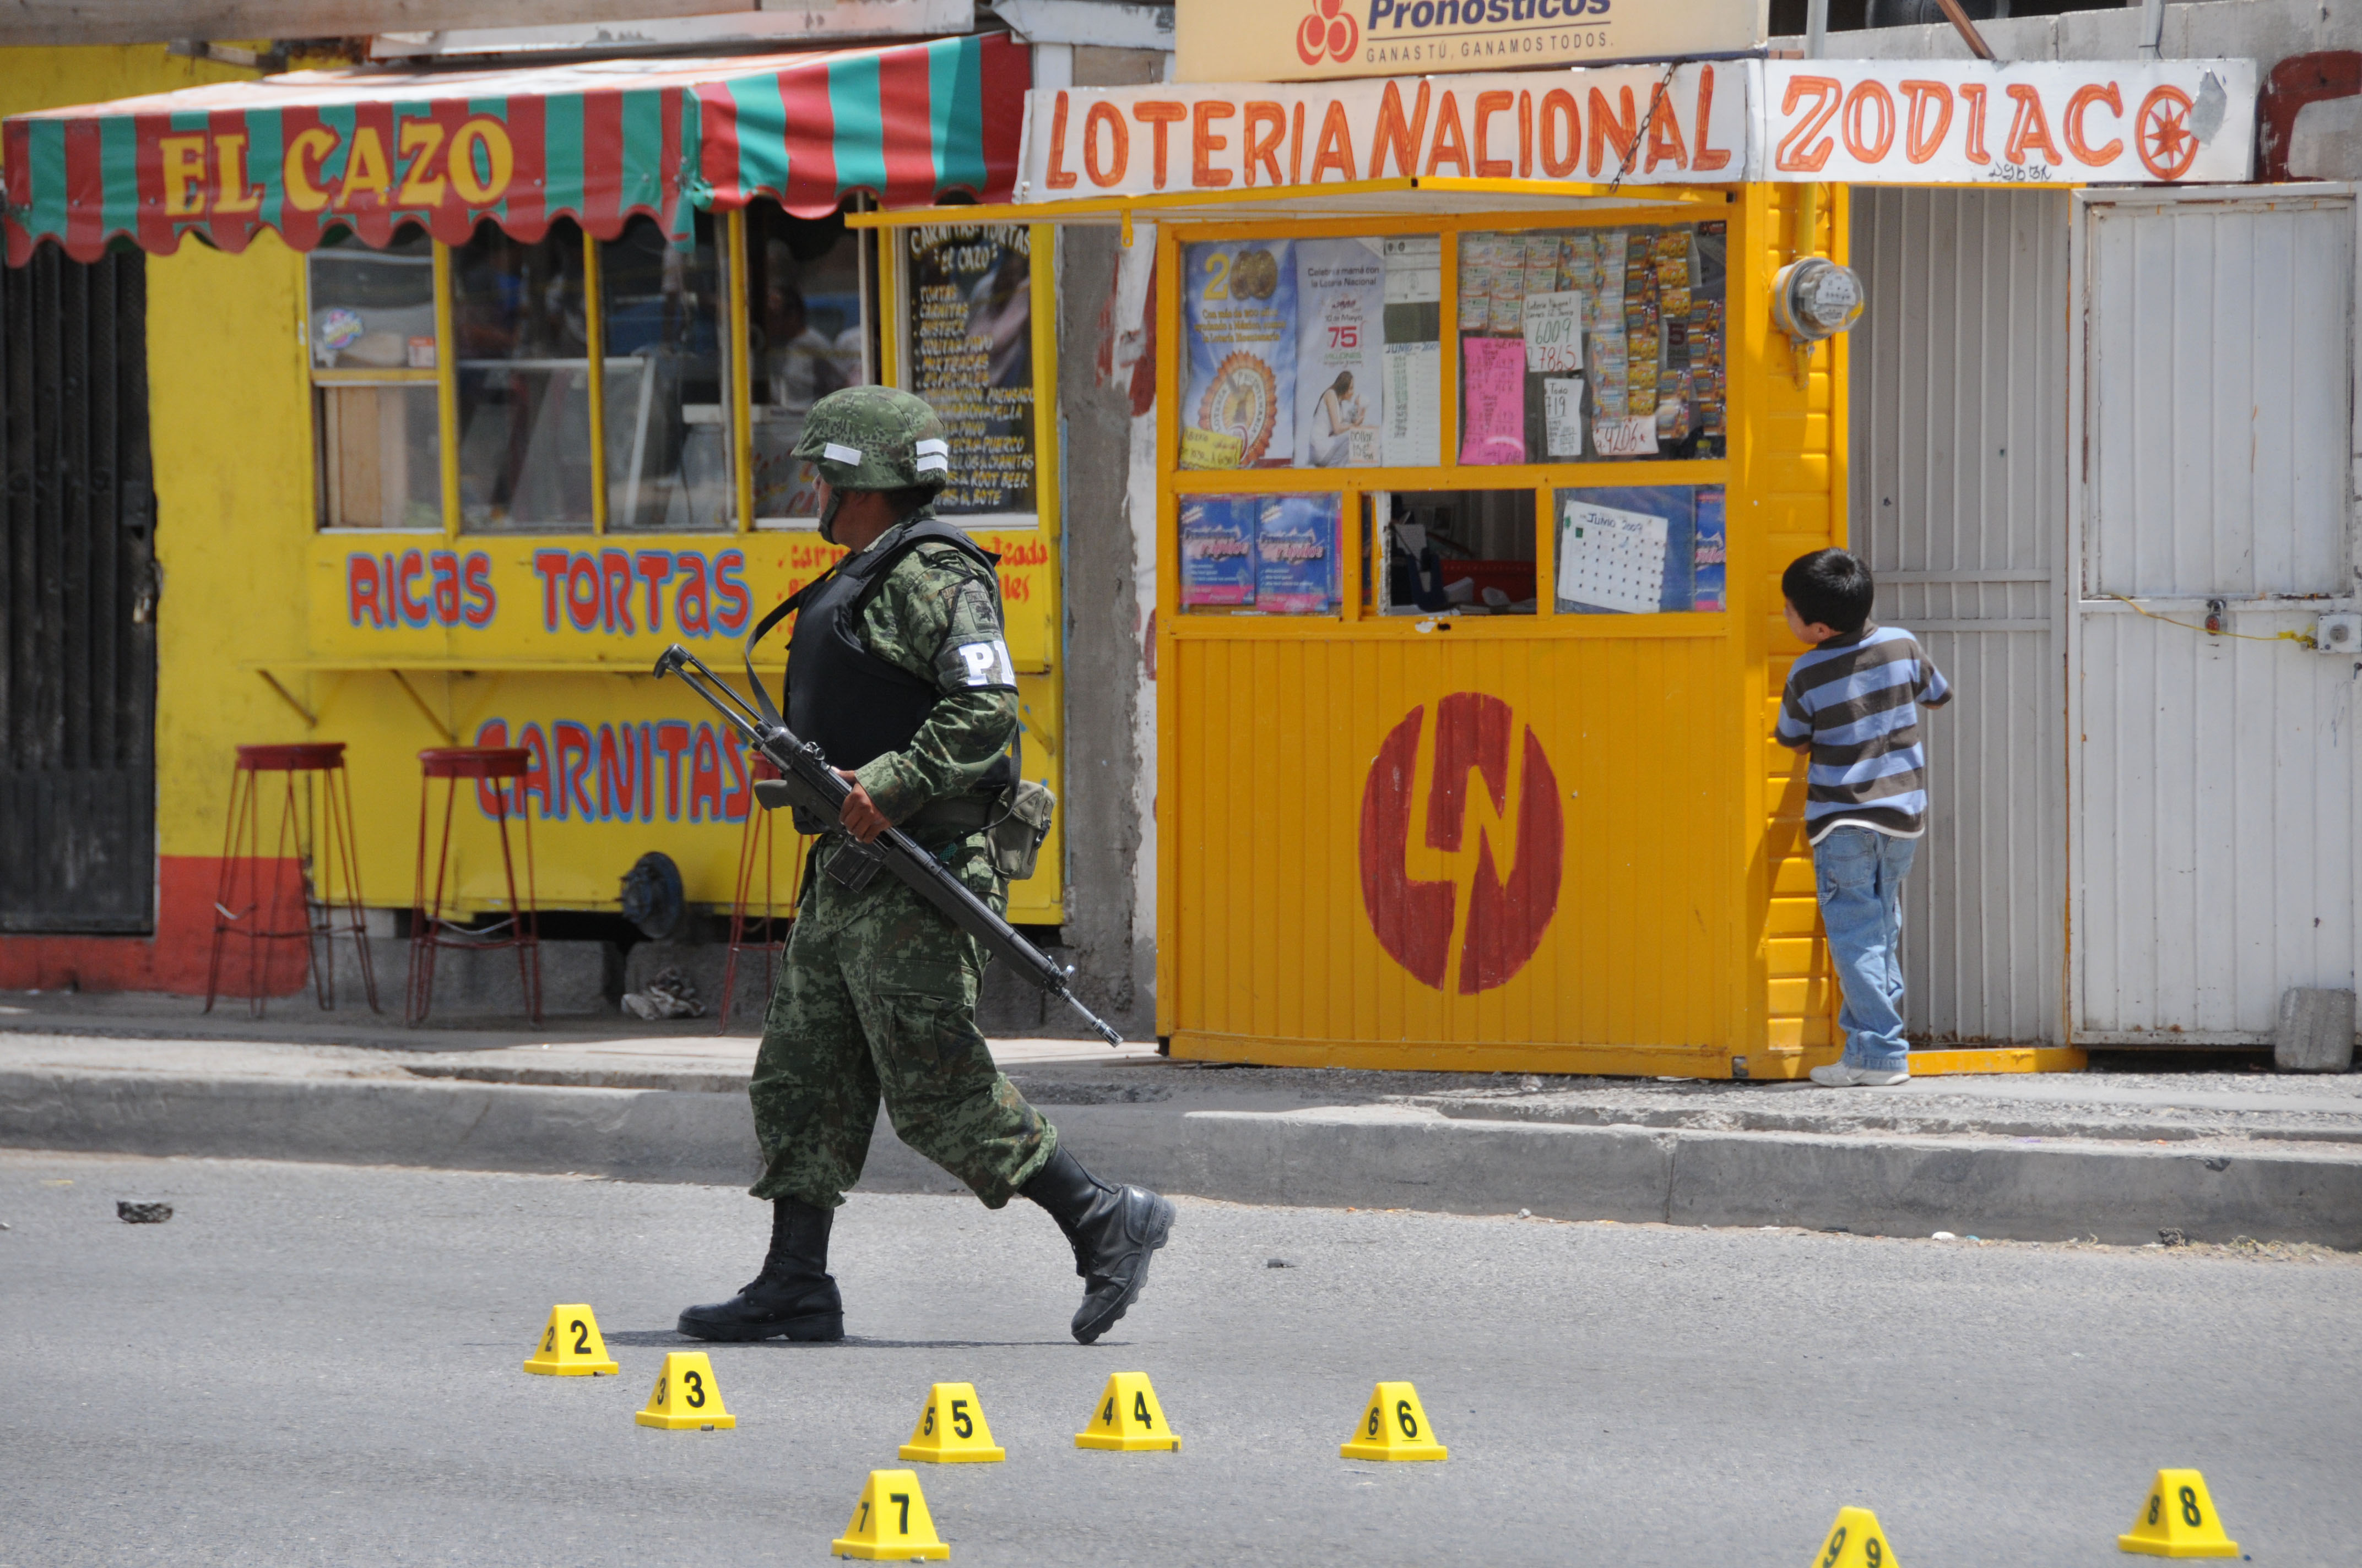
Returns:
[[[1386,255],[1375,239],[1299,239],[1297,463],[1375,468],[1386,430]]]

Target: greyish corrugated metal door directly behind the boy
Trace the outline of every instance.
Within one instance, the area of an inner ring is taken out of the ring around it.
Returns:
[[[2064,191],[1854,191],[1847,536],[1958,692],[1904,883],[1906,1023],[1937,1046],[2062,1037],[2067,227]]]

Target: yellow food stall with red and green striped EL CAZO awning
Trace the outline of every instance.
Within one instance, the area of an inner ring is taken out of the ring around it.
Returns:
[[[154,937],[19,937],[9,975],[203,992],[250,741],[347,744],[371,907],[411,904],[418,751],[505,744],[543,912],[614,912],[650,850],[727,909],[749,758],[650,668],[676,638],[723,661],[836,557],[789,451],[862,380],[945,413],[942,510],[1001,557],[1025,767],[1058,789],[1056,281],[1025,224],[935,205],[1009,196],[1030,59],[331,68],[12,116],[9,260],[151,257],[163,638]],[[857,205],[931,222],[879,246]],[[465,916],[508,902],[496,789],[454,841]],[[1056,838],[1039,867],[1011,921],[1063,919]],[[791,881],[789,838],[779,914]],[[267,989],[302,982],[298,949]]]

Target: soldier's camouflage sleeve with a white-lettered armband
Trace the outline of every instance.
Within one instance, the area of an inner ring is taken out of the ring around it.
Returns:
[[[947,545],[921,545],[886,574],[862,640],[942,699],[905,751],[862,765],[869,798],[893,822],[978,784],[1018,727],[1018,678],[1001,638],[999,595]]]

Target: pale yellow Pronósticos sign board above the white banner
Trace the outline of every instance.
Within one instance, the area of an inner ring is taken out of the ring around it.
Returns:
[[[1764,0],[1190,0],[1174,14],[1183,83],[1309,83],[1762,47]]]

